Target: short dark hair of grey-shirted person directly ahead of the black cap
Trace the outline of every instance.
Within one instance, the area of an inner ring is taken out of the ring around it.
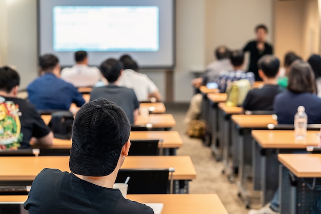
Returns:
[[[105,60],[100,66],[101,72],[109,83],[117,81],[121,71],[123,70],[122,62],[110,58]]]

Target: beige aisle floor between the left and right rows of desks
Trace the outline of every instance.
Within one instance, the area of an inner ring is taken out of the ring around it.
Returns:
[[[247,214],[248,210],[242,200],[237,197],[235,183],[229,183],[222,174],[222,163],[216,162],[211,149],[203,145],[200,139],[191,139],[185,134],[183,123],[188,105],[167,105],[167,113],[173,114],[176,126],[173,130],[179,132],[183,139],[183,147],[177,150],[177,155],[189,155],[196,169],[197,178],[190,182],[190,193],[216,193],[230,214]],[[252,205],[258,208],[258,202]]]

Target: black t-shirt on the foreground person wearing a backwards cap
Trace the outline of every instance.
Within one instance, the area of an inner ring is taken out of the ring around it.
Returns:
[[[144,204],[125,199],[118,189],[97,186],[58,169],[43,169],[38,174],[24,207],[29,214],[154,213]]]

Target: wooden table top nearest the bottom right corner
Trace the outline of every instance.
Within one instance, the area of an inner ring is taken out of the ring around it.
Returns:
[[[277,159],[298,178],[321,177],[321,154],[278,154]]]

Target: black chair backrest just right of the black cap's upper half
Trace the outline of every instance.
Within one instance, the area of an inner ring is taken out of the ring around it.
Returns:
[[[158,155],[159,140],[131,140],[128,155]]]

